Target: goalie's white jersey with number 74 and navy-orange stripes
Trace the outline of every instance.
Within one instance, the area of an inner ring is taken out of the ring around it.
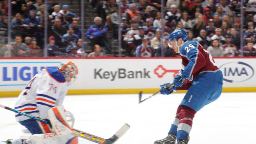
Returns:
[[[46,119],[48,109],[62,105],[67,92],[66,79],[57,69],[45,68],[39,71],[18,96],[15,109]],[[30,119],[15,113],[17,121]]]

